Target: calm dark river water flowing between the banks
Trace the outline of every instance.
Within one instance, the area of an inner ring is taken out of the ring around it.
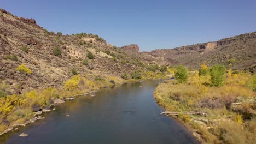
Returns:
[[[101,89],[95,97],[79,96],[45,119],[0,136],[0,143],[197,143],[182,124],[160,115],[164,109],[153,97],[160,82],[125,83]]]

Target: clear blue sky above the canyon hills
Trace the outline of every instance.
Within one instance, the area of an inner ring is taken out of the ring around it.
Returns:
[[[256,31],[256,1],[21,1],[0,8],[48,31],[94,33],[141,51],[171,49]]]

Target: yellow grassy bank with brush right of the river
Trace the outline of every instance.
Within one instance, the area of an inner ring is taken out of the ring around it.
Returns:
[[[214,86],[209,74],[190,72],[187,82],[168,80],[154,96],[178,119],[189,124],[205,143],[254,143],[256,141],[256,75],[228,70],[224,83]],[[185,115],[200,111],[207,115]]]

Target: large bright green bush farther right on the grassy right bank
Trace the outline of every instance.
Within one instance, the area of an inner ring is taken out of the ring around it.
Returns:
[[[223,65],[214,65],[210,69],[210,76],[211,76],[211,82],[212,86],[219,87],[223,86],[225,83],[224,80],[224,74],[225,74],[226,68]]]

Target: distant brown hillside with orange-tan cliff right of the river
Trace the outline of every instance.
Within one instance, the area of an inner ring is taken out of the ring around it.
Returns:
[[[208,65],[228,64],[235,60],[234,69],[256,69],[256,32],[241,34],[203,44],[177,47],[175,49],[159,49],[148,52],[155,57],[164,57],[173,65],[183,64],[187,67],[199,68],[202,62]]]

